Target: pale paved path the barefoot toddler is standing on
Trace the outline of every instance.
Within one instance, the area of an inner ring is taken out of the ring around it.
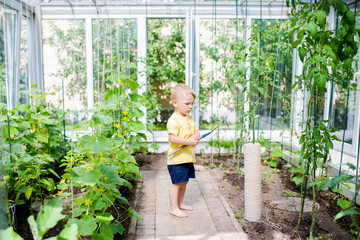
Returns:
[[[187,218],[170,215],[168,190],[171,182],[165,167],[166,164],[159,171],[141,171],[143,181],[138,186],[136,209],[144,220],[132,222],[132,239],[247,239],[202,166],[196,166],[196,179],[190,180],[184,199],[194,210],[187,212]]]

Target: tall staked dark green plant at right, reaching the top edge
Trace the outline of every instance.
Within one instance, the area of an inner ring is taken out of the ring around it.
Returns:
[[[287,3],[289,6],[289,1]],[[297,78],[293,87],[309,94],[304,130],[300,137],[301,165],[305,166],[305,171],[301,172],[301,179],[299,179],[303,192],[299,227],[308,181],[317,181],[311,176],[316,176],[316,170],[326,165],[329,150],[333,148],[332,141],[336,139],[332,135],[335,129],[329,127],[328,121],[318,117],[327,91],[326,84],[327,82],[337,83],[347,90],[355,87],[355,84],[351,83],[354,75],[352,62],[358,49],[355,35],[359,34],[359,30],[355,27],[354,13],[343,1],[325,0],[315,3],[292,1],[291,5],[293,15],[291,36],[296,33],[292,47],[298,49],[299,57],[304,63],[302,75]],[[326,23],[326,17],[329,15],[331,7],[335,9],[341,19],[336,32],[328,29]],[[331,70],[328,66],[331,67]],[[326,178],[320,176],[319,179]],[[313,238],[315,227],[315,197],[318,184],[311,184],[311,186],[313,221],[310,239]]]

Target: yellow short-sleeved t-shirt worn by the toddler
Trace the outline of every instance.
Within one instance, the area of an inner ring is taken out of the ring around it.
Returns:
[[[187,115],[185,117],[173,113],[169,118],[166,128],[168,134],[174,134],[182,138],[189,138],[195,133],[196,125],[194,119]],[[181,145],[169,141],[169,152],[174,151]],[[195,162],[195,147],[187,146],[184,149],[168,157],[168,165]]]

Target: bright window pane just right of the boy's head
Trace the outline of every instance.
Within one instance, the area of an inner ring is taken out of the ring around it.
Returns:
[[[238,53],[231,48],[236,39],[243,43],[244,20],[200,20],[200,129],[213,128],[219,118],[235,128],[235,104],[241,101],[243,88],[234,83]]]

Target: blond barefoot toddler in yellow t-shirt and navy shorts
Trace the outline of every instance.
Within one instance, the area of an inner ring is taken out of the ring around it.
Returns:
[[[171,90],[171,101],[175,108],[167,122],[169,134],[169,153],[186,145],[184,149],[169,155],[167,167],[172,185],[169,191],[170,214],[185,218],[192,211],[192,207],[183,203],[186,185],[189,178],[195,178],[195,146],[198,144],[200,133],[196,130],[193,118],[188,115],[194,105],[196,94],[185,84],[178,84]]]

